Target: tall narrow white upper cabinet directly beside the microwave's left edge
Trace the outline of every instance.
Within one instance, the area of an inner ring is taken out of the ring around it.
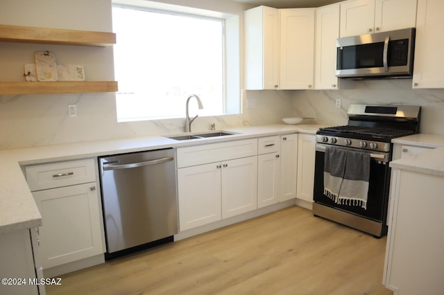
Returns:
[[[338,89],[336,39],[339,38],[340,8],[340,4],[333,4],[316,10],[316,89]]]

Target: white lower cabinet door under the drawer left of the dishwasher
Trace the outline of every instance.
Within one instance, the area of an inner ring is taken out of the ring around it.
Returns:
[[[33,192],[44,269],[103,253],[96,184]]]

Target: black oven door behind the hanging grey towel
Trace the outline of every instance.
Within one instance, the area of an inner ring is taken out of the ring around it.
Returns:
[[[390,168],[388,167],[388,159],[386,159],[388,153],[372,152],[370,154],[370,180],[368,183],[367,208],[364,209],[361,208],[361,206],[335,204],[332,199],[324,195],[324,157],[326,146],[327,145],[321,143],[316,144],[314,202],[345,213],[350,213],[352,215],[357,215],[368,220],[385,224],[388,206],[388,190],[390,185]],[[345,149],[348,147],[341,148]]]

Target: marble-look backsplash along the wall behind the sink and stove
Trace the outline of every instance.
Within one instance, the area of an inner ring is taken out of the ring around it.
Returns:
[[[444,89],[412,90],[411,80],[355,82],[339,91],[246,91],[257,107],[239,115],[199,117],[193,131],[282,123],[282,117],[314,117],[316,123],[344,125],[353,103],[422,106],[421,132],[444,135]],[[341,108],[335,107],[341,99]],[[245,104],[244,99],[244,106]],[[114,93],[0,96],[0,150],[115,138],[180,134],[184,118],[117,123]],[[76,104],[77,118],[67,105]],[[198,114],[190,110],[190,115]]]

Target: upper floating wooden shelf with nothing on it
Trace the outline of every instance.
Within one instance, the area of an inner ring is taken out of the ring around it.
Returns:
[[[116,34],[87,30],[35,28],[31,26],[0,24],[0,42],[110,46],[116,44]]]

